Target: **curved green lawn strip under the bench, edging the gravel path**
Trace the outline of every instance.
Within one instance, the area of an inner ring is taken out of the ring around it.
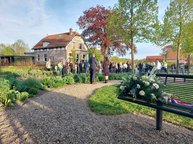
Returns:
[[[88,101],[91,110],[103,115],[134,113],[155,117],[155,109],[119,100],[117,90],[117,86],[106,86],[96,90]],[[167,112],[163,113],[165,121],[193,129],[193,119]]]

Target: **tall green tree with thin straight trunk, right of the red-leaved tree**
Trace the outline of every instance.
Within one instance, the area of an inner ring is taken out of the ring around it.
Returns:
[[[158,26],[157,0],[119,0],[109,23],[112,37],[130,46],[134,73],[134,43],[153,41]]]

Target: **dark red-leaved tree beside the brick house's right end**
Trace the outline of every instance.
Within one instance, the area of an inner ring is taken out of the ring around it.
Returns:
[[[110,48],[116,49],[120,53],[126,53],[128,47],[122,45],[119,40],[111,40],[107,33],[107,18],[111,10],[97,5],[83,12],[84,15],[78,19],[78,25],[83,29],[82,35],[86,43],[92,46],[101,47],[101,52],[106,55]]]

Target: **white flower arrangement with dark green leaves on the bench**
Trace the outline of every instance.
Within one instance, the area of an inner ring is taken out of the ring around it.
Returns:
[[[171,94],[164,92],[165,85],[159,81],[155,72],[154,67],[149,75],[133,75],[123,79],[119,88],[119,96],[142,99],[151,103],[167,103]]]

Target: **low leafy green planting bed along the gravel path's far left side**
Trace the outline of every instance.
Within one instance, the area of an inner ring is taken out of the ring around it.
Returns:
[[[0,73],[0,103],[4,106],[12,106],[17,101],[23,101],[46,88],[58,88],[65,84],[89,83],[89,74],[72,74],[54,76],[52,74],[38,71],[24,77],[23,73],[2,72]],[[42,76],[42,75],[47,76]],[[110,80],[120,80],[128,74],[110,74]],[[96,74],[95,81],[104,81],[102,74]]]

